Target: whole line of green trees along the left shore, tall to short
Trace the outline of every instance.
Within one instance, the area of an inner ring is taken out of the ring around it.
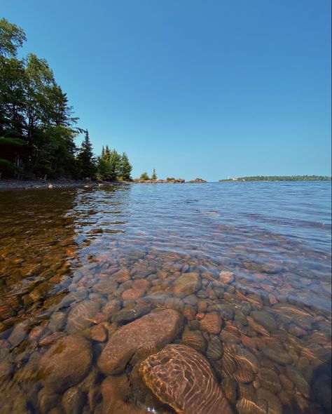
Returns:
[[[127,154],[106,145],[95,157],[48,62],[34,53],[18,58],[26,40],[23,29],[0,20],[0,178],[131,180]]]

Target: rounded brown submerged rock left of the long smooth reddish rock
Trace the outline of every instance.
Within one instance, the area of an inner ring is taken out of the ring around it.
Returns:
[[[60,338],[40,361],[43,383],[55,392],[78,384],[87,375],[92,361],[90,343],[83,338]]]

